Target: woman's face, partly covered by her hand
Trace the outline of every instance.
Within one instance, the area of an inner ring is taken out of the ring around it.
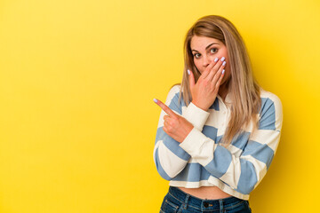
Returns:
[[[220,85],[228,80],[230,76],[230,70],[228,66],[229,60],[226,45],[220,42],[220,40],[211,37],[193,36],[191,38],[190,47],[196,68],[201,74],[204,72],[205,67],[208,67],[208,65],[215,58],[218,57],[219,59],[221,59],[222,57],[224,57],[227,63],[225,67],[225,75]]]

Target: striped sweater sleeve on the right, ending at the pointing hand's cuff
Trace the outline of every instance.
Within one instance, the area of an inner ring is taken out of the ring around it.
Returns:
[[[204,166],[212,178],[227,184],[238,193],[249,194],[266,175],[280,140],[283,123],[283,109],[276,95],[263,99],[260,109],[259,127],[250,134],[241,154],[232,154],[229,148],[220,146],[194,128],[180,147]],[[236,140],[233,138],[232,144]]]

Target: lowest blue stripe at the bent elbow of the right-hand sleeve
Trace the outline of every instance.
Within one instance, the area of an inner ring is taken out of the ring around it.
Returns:
[[[236,191],[239,193],[249,194],[252,192],[254,185],[257,183],[257,175],[252,162],[240,158],[241,175]]]

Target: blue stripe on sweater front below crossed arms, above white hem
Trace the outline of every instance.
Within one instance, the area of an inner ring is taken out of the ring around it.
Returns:
[[[210,173],[204,170],[204,167],[197,163],[188,163],[186,167],[172,180],[198,182],[200,180],[207,180],[210,177]]]

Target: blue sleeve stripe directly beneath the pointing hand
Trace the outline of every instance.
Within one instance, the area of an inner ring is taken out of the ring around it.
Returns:
[[[163,140],[164,146],[166,146],[173,154],[180,157],[180,159],[188,161],[190,158],[190,154],[188,154],[184,149],[182,149],[179,145],[180,143],[175,139],[171,138],[165,131],[163,127],[159,127],[156,130],[156,141]]]

